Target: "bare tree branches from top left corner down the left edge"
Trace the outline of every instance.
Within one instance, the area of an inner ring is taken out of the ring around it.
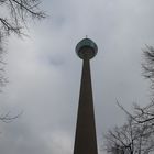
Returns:
[[[29,20],[41,20],[46,16],[40,9],[40,0],[0,0],[0,87],[4,86],[3,44],[11,34],[25,35]]]

